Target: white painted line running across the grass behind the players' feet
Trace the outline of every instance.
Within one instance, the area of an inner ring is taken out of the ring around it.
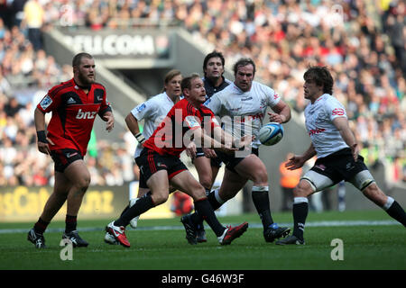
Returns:
[[[329,221],[311,221],[306,223],[306,227],[339,227],[339,226],[387,226],[387,225],[401,225],[399,222],[394,220],[329,220]],[[291,227],[291,223],[279,223],[279,226]],[[263,228],[260,223],[249,224],[249,228]],[[182,226],[150,226],[150,227],[138,227],[137,231],[143,230],[180,230],[183,229]],[[0,234],[12,234],[12,233],[27,233],[30,228],[27,229],[0,229]],[[48,233],[52,232],[63,232],[64,228],[50,228],[47,229]],[[101,227],[85,227],[78,228],[78,231],[88,232],[88,231],[104,231]],[[128,228],[128,230],[134,230]]]

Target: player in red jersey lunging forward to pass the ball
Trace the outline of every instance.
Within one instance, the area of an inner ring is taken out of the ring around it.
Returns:
[[[110,222],[106,227],[106,232],[114,236],[124,247],[130,247],[125,236],[125,226],[135,216],[166,202],[170,184],[193,198],[195,210],[208,222],[221,245],[230,244],[248,228],[246,222],[236,227],[224,227],[220,224],[208,202],[205,188],[180,161],[180,153],[188,148],[189,153],[196,154],[196,144],[191,139],[195,139],[196,143],[201,139],[208,148],[234,153],[238,148],[249,147],[251,137],[234,139],[218,126],[213,112],[202,105],[206,101],[206,90],[198,74],[184,78],[181,89],[185,98],[171,108],[152,136],[143,143],[143,151],[135,159],[151,192],[146,193],[118,220]],[[214,139],[210,137],[211,132]],[[232,148],[232,143],[235,148]],[[183,222],[183,224],[189,243],[197,244],[196,230],[192,229],[191,223]]]

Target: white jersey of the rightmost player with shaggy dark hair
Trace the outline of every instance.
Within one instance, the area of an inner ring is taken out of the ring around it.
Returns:
[[[346,117],[342,103],[330,94],[322,94],[315,103],[305,108],[306,129],[318,157],[326,157],[348,147],[333,124],[337,117]]]

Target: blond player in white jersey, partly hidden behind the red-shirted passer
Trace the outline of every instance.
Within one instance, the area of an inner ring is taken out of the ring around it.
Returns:
[[[163,81],[163,92],[161,94],[156,94],[144,103],[135,106],[134,109],[125,117],[125,123],[127,124],[128,129],[133,133],[135,139],[138,141],[138,145],[134,152],[134,158],[140,156],[140,153],[143,150],[143,142],[150,138],[153,131],[158,127],[163,118],[165,118],[166,114],[171,110],[173,105],[179,101],[181,94],[181,81],[182,75],[180,70],[173,69],[169,71],[165,75]],[[144,121],[143,132],[140,132],[138,122],[142,120]],[[134,203],[144,194],[150,191],[143,180],[142,175],[139,180],[137,197],[130,199],[129,205],[125,207],[122,214],[128,208],[133,206]],[[137,216],[130,221],[132,228],[137,227],[139,217],[140,216]],[[109,244],[118,244],[116,243],[115,238],[112,235],[109,235],[108,232],[106,232],[105,241]]]

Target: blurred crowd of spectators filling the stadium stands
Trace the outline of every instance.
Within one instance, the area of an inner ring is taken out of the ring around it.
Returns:
[[[303,117],[302,76],[331,68],[367,165],[382,163],[390,182],[406,182],[406,5],[396,0],[0,0],[0,184],[53,183],[53,163],[38,152],[33,110],[51,86],[72,77],[42,47],[53,25],[100,29],[180,25],[226,56],[254,59],[255,79]],[[233,80],[233,79],[231,79]],[[92,184],[135,177],[134,137],[97,141],[87,163]]]

